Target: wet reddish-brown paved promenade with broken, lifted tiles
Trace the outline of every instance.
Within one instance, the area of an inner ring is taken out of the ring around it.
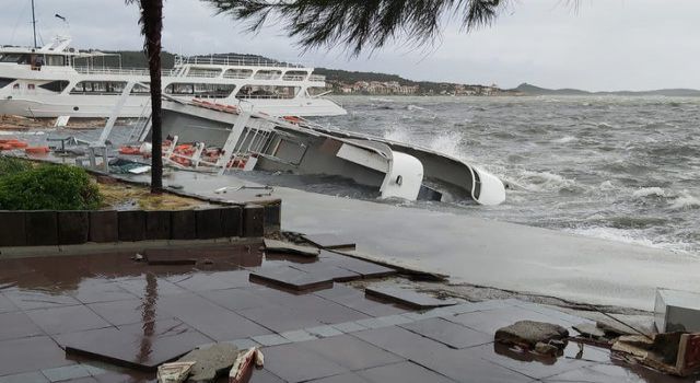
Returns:
[[[533,303],[457,300],[411,311],[332,280],[304,291],[257,283],[250,274],[261,270],[376,266],[258,247],[150,251],[194,265],[149,265],[133,252],[0,260],[0,383],[152,382],[159,363],[214,341],[262,347],[254,383],[695,382],[573,341],[558,359],[494,345],[494,330],[515,321],[586,321]]]

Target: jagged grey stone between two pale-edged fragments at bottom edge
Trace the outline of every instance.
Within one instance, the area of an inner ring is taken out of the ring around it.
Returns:
[[[179,362],[197,362],[189,372],[187,382],[213,382],[226,370],[231,369],[238,356],[238,349],[232,344],[220,343],[206,348],[198,348],[184,357]]]

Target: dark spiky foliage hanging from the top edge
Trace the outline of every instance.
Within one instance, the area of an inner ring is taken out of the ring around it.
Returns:
[[[202,0],[250,32],[276,21],[304,48],[346,46],[353,55],[405,38],[419,45],[440,35],[445,16],[466,32],[489,24],[508,0]]]

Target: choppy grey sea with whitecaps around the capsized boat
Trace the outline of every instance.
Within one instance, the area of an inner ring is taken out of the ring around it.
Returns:
[[[509,185],[495,207],[404,205],[700,255],[700,98],[334,100],[348,115],[319,123],[434,149]],[[323,177],[305,183],[314,192],[376,198]]]

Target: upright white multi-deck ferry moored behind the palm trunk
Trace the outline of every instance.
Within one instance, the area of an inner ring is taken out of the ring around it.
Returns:
[[[25,117],[108,117],[132,86],[119,117],[139,117],[150,107],[148,69],[121,67],[121,57],[70,47],[57,36],[38,47],[0,48],[0,114]],[[106,66],[107,59],[118,60]],[[240,56],[177,56],[163,70],[163,93],[189,101],[252,104],[273,116],[336,116],[347,112],[324,98],[325,78],[313,68]],[[143,85],[145,84],[145,86]]]

